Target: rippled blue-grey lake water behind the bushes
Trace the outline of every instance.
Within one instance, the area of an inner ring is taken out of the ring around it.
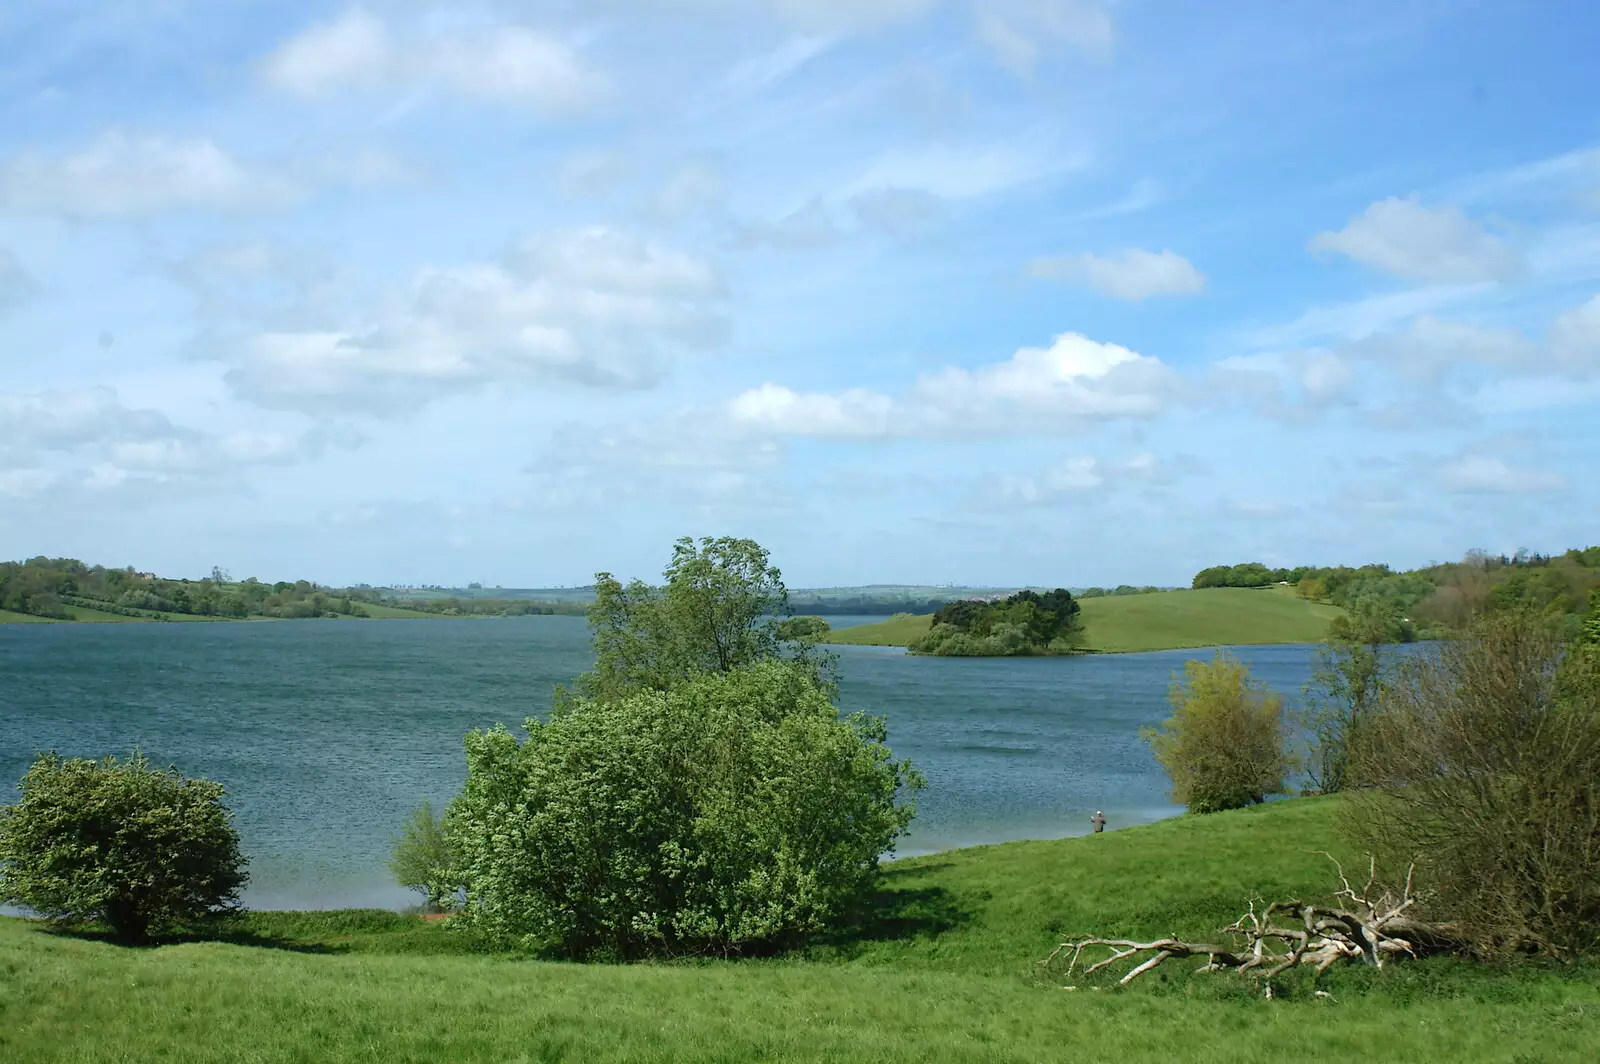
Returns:
[[[837,626],[875,618],[835,618]],[[1178,813],[1139,741],[1211,651],[950,659],[840,646],[840,701],[888,718],[928,776],[899,853],[1054,838]],[[1235,648],[1291,699],[1309,646]],[[254,907],[400,907],[406,813],[461,786],[461,736],[520,725],[590,664],[582,618],[0,626],[0,802],[40,750],[125,755],[221,781]]]

